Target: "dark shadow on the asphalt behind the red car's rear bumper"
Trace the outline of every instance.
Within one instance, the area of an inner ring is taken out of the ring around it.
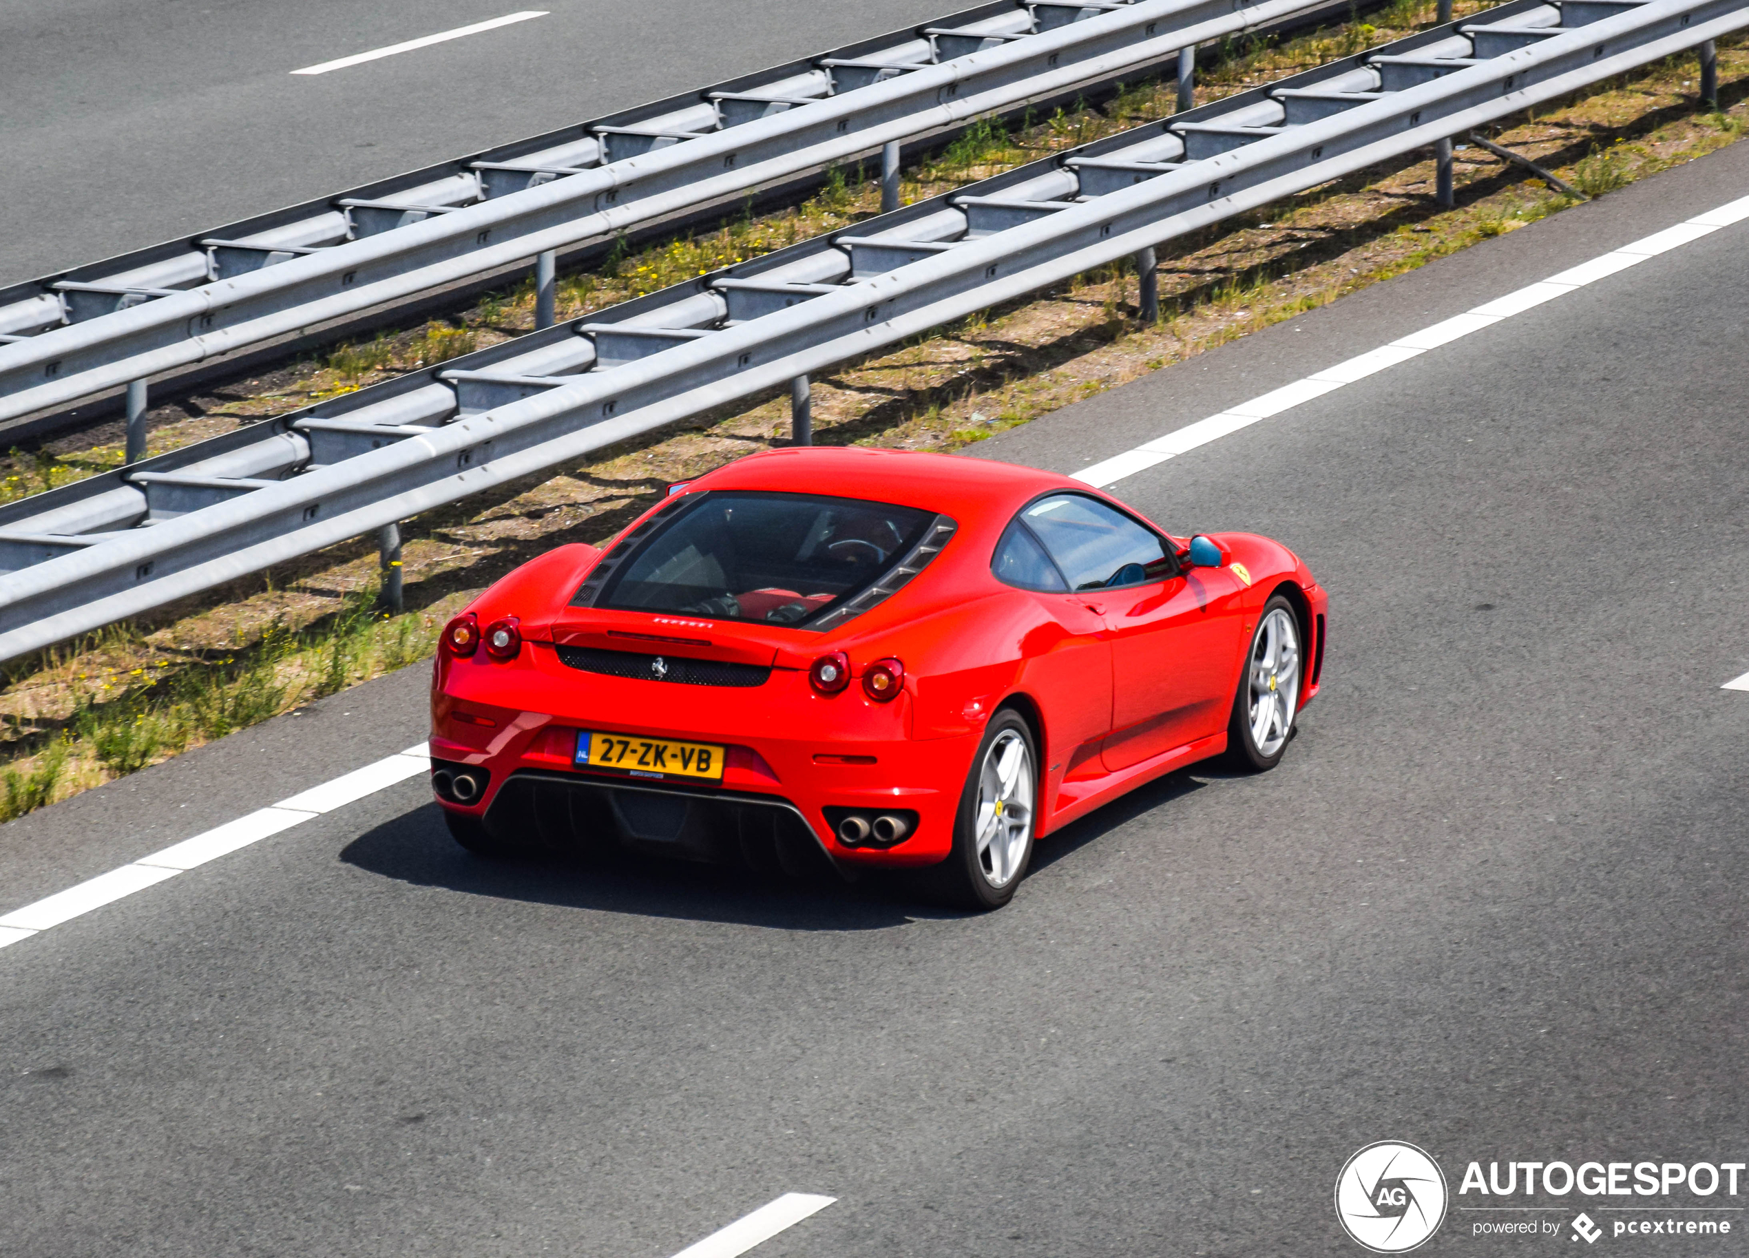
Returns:
[[[385,878],[470,896],[778,931],[881,931],[920,919],[960,917],[906,894],[902,884],[888,878],[845,884],[826,873],[792,880],[619,854],[486,861],[449,838],[436,803],[360,835],[339,856]]]

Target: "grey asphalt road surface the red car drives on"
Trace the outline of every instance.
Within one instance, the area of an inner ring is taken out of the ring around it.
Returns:
[[[978,453],[1086,465],[1746,191],[1749,143]],[[1326,691],[1280,768],[1139,791],[999,913],[491,866],[411,780],[5,948],[0,1251],[666,1258],[803,1192],[838,1200],[759,1258],[1357,1255],[1331,1190],[1371,1141],[1453,1192],[1471,1160],[1749,1160],[1746,250],[1123,481],[1307,556]],[[0,829],[0,910],[406,747],[422,686]],[[1422,1253],[1576,1253],[1466,1211]]]

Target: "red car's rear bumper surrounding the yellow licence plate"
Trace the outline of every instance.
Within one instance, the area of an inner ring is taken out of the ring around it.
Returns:
[[[446,661],[439,670],[434,768],[488,775],[469,803],[439,794],[444,808],[504,829],[539,821],[530,798],[565,794],[575,801],[565,805],[567,815],[591,831],[581,842],[609,836],[686,859],[745,856],[749,845],[763,849],[768,833],[805,835],[841,864],[934,864],[951,847],[978,735],[911,740],[908,695],[890,703],[857,688],[820,696],[785,670],[759,688],[682,686],[579,675],[539,644],[525,646],[523,656],[509,665]],[[579,766],[577,740],[591,731],[722,745],[722,777]],[[850,845],[834,826],[847,810],[915,822],[897,843]],[[547,814],[546,829],[560,829],[553,805]]]

